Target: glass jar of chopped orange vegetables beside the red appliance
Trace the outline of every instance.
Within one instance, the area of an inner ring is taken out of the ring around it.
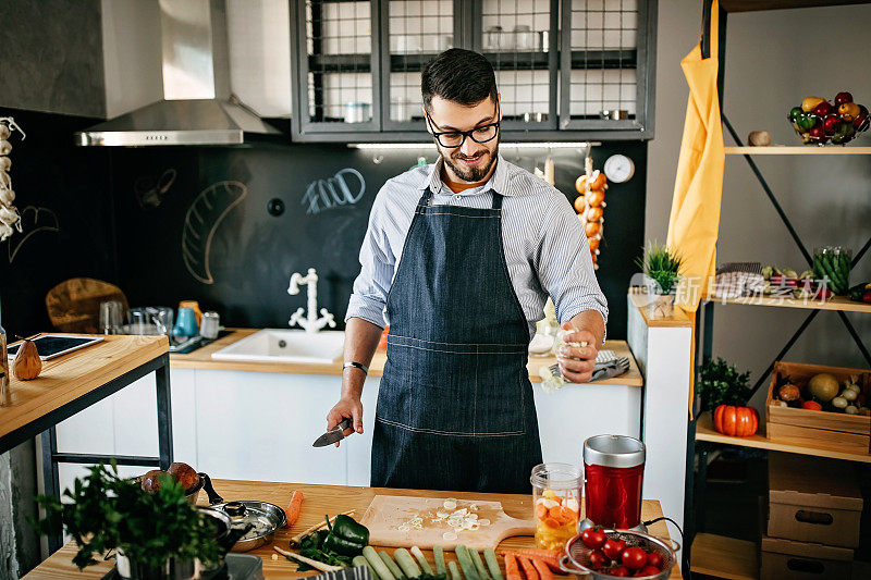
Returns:
[[[536,546],[563,550],[577,535],[580,518],[580,468],[569,464],[541,464],[532,468]]]

